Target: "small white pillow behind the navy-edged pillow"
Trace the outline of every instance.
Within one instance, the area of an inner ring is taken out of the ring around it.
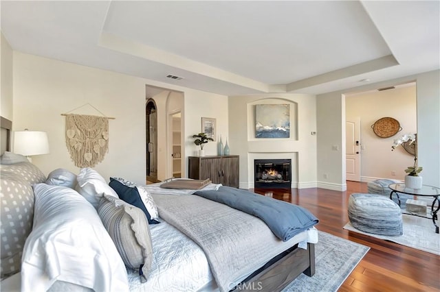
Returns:
[[[104,178],[90,167],[81,169],[76,180],[78,181],[75,187],[76,191],[83,195],[96,209],[104,194],[118,197],[118,194],[107,184]]]

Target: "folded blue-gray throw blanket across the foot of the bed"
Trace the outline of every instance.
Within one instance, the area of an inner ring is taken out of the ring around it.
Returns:
[[[318,223],[318,219],[305,208],[239,188],[220,186],[218,191],[197,191],[195,195],[259,217],[282,241],[288,241]]]

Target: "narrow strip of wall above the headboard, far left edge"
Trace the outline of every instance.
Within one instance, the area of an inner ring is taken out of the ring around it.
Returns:
[[[0,92],[1,92],[1,117],[12,121],[12,48],[3,34],[0,38],[1,57],[0,57]]]

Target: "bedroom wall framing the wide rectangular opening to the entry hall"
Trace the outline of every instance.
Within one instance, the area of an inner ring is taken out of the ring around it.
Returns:
[[[401,77],[357,88],[348,88],[317,96],[318,125],[318,186],[345,191],[345,147],[333,151],[333,143],[343,145],[345,140],[345,97],[386,86],[416,82],[417,134],[419,166],[423,167],[423,184],[440,186],[440,71]],[[392,153],[391,153],[392,154]],[[390,154],[390,155],[391,155]],[[323,173],[332,173],[328,180]]]

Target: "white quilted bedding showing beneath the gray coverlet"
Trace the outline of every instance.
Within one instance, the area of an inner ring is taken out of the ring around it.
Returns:
[[[217,186],[219,185],[213,184],[211,187]],[[170,189],[158,188],[157,184],[155,187],[161,192],[170,191]],[[149,191],[155,193],[153,190]],[[130,291],[219,291],[210,271],[208,259],[201,247],[163,219],[160,221],[162,223],[150,226],[154,258],[148,280],[141,283],[138,272],[127,269]],[[298,234],[290,242],[292,245],[301,243],[303,247],[307,246],[305,244],[307,242],[317,243],[318,232],[315,228],[311,228]],[[72,289],[71,283],[56,281],[50,291],[69,291],[69,289]],[[1,291],[21,291],[20,274],[3,280]]]

